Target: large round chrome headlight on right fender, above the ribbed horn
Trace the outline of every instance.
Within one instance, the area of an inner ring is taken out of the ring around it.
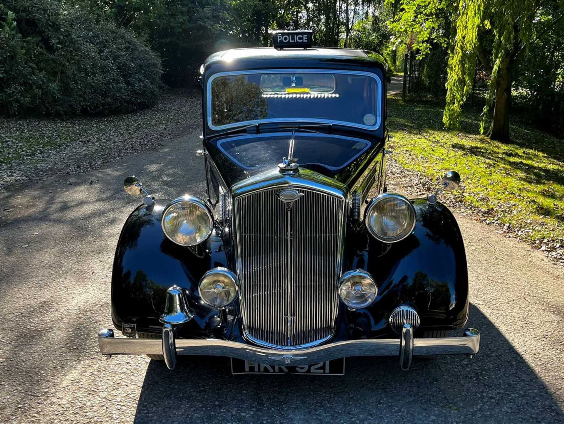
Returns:
[[[382,193],[367,207],[364,222],[376,239],[385,243],[400,241],[415,227],[415,207],[401,195]]]

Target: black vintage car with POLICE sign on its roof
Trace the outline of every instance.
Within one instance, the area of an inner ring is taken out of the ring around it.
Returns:
[[[234,373],[340,374],[346,356],[465,354],[468,271],[438,192],[387,192],[381,56],[311,48],[211,55],[200,68],[208,199],[146,195],[118,241],[103,355],[231,357]],[[376,193],[372,196],[371,193]],[[182,193],[179,193],[182,194]]]

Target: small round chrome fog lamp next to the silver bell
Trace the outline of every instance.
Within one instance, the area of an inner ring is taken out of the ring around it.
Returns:
[[[198,291],[205,304],[222,309],[237,297],[237,276],[227,268],[213,268],[200,279]]]

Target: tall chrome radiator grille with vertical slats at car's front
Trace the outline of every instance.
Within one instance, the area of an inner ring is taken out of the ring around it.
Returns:
[[[319,342],[333,333],[342,256],[342,197],[284,188],[235,199],[237,271],[246,334],[280,347]]]

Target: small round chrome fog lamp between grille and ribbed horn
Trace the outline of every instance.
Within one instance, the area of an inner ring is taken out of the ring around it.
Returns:
[[[349,308],[365,308],[374,302],[377,294],[376,283],[366,271],[348,271],[339,280],[339,296]]]

